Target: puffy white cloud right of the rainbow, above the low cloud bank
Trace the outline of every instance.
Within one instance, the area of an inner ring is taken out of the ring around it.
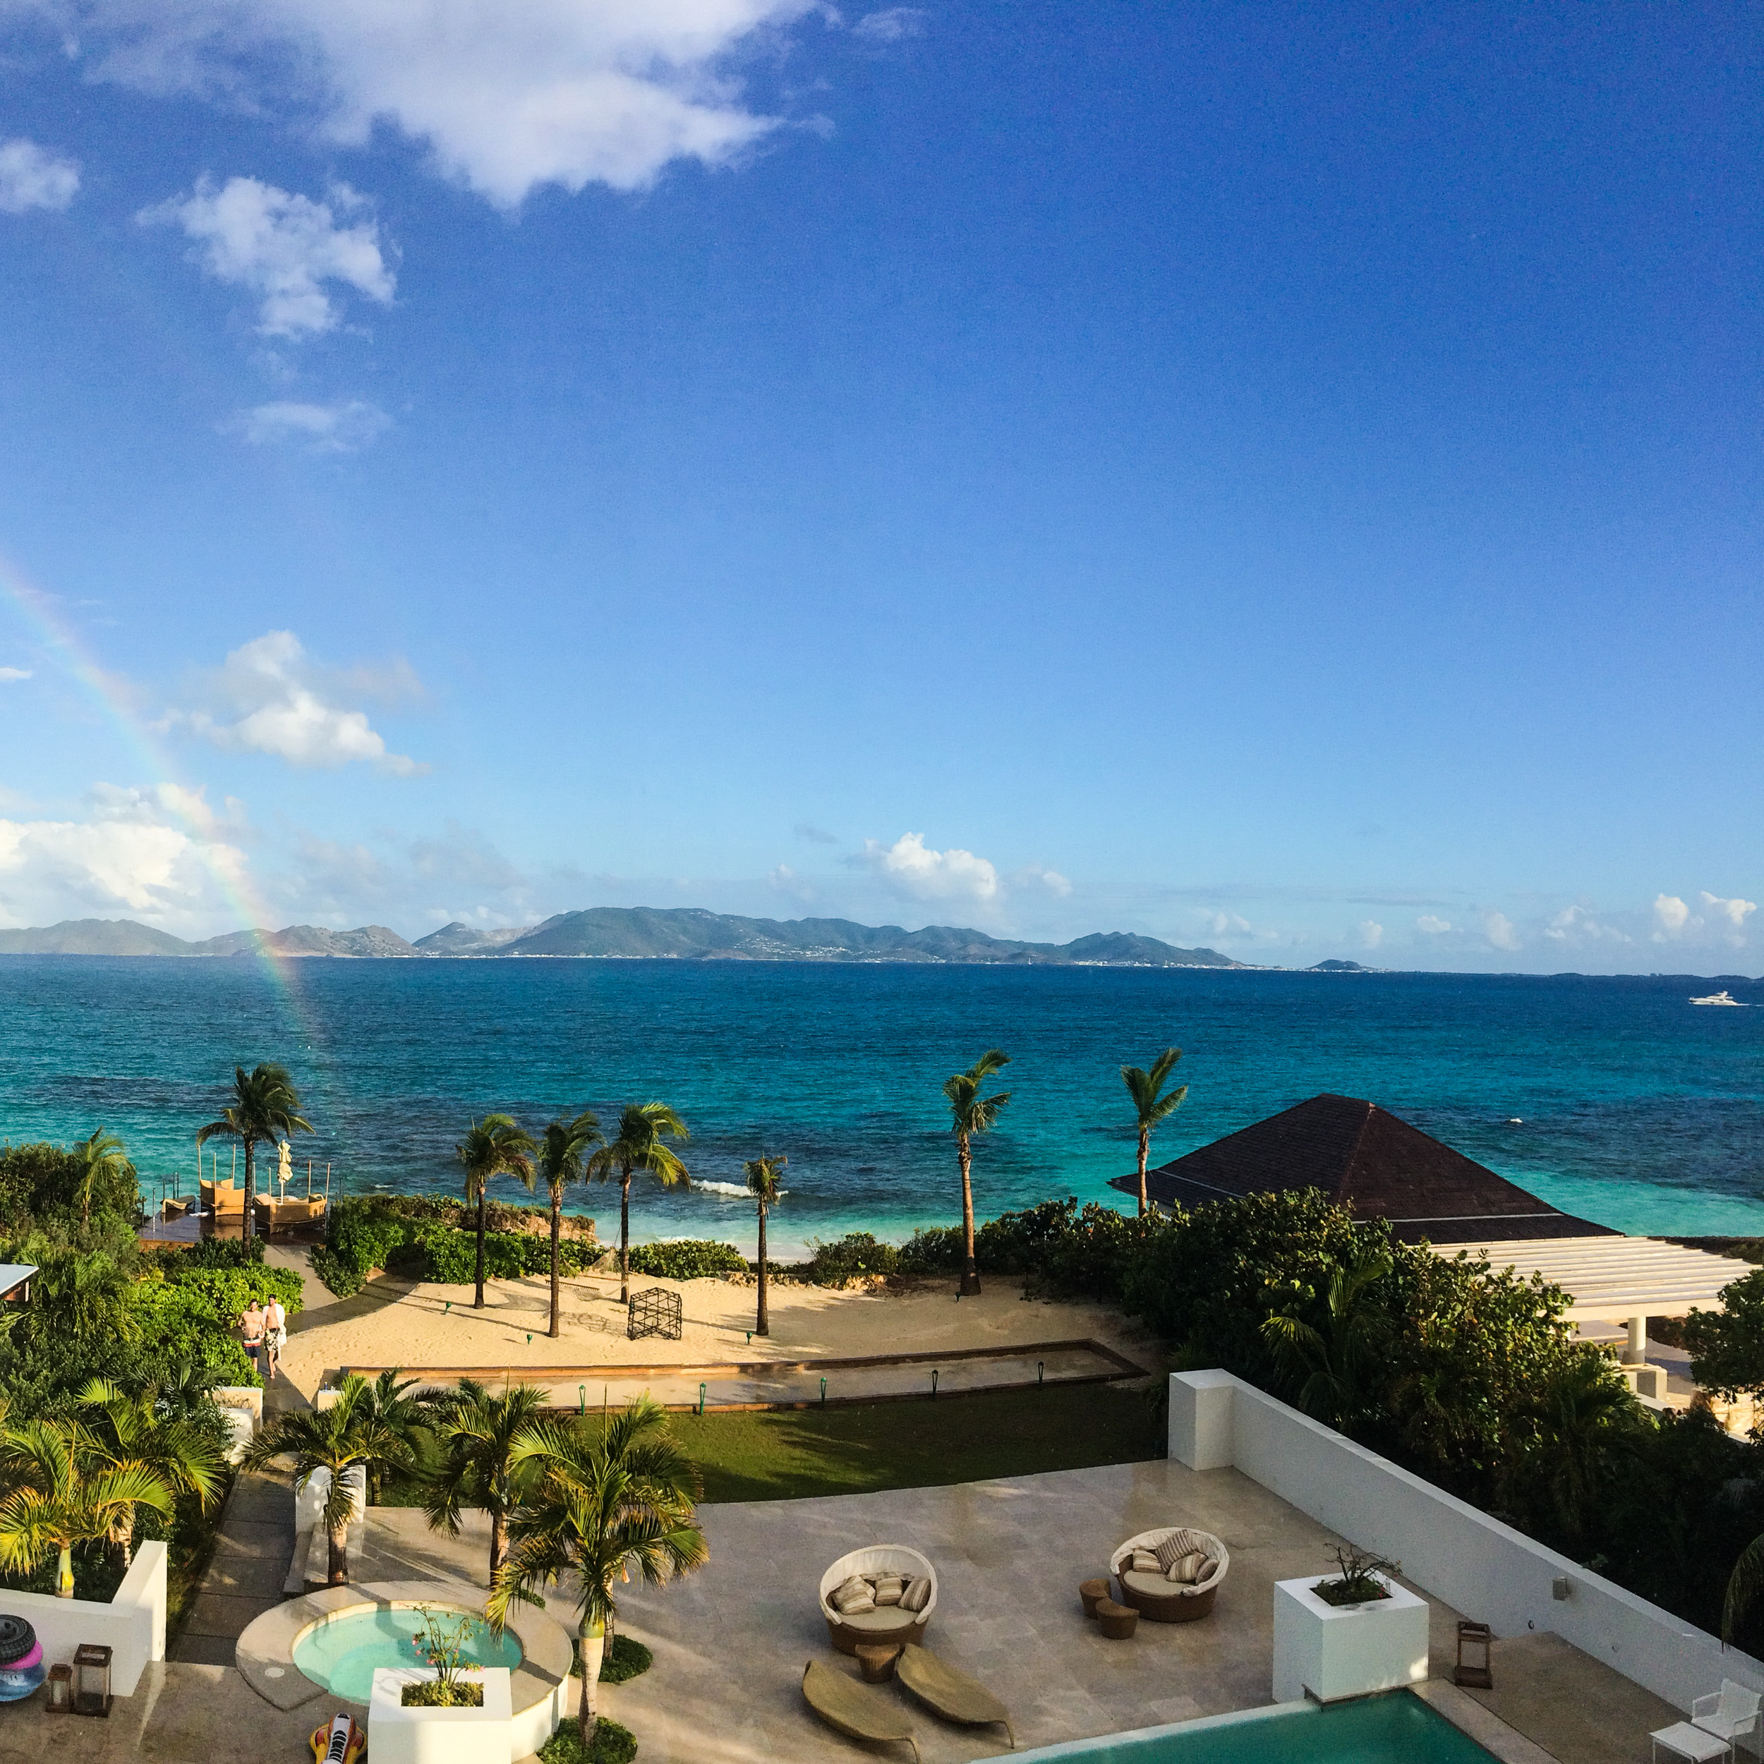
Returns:
[[[293,632],[266,632],[235,649],[203,683],[203,697],[228,702],[233,720],[208,711],[171,711],[162,727],[187,729],[220,748],[273,753],[293,766],[360,760],[399,778],[427,771],[402,753],[390,753],[365,711],[328,702],[339,684],[360,690],[372,688],[374,681],[360,670],[326,676],[307,662]],[[407,691],[415,676],[399,663],[390,684],[393,691]]]

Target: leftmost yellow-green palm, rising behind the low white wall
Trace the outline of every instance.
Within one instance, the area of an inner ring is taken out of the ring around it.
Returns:
[[[35,1568],[58,1556],[55,1596],[74,1596],[74,1545],[134,1535],[136,1508],[169,1515],[166,1478],[134,1457],[116,1457],[81,1420],[11,1425],[0,1406],[0,1568]]]

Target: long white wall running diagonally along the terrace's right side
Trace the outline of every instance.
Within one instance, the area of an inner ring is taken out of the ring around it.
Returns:
[[[1535,1544],[1512,1526],[1344,1439],[1231,1372],[1173,1372],[1170,1455],[1192,1469],[1240,1469],[1402,1577],[1494,1626],[1554,1630],[1582,1653],[1690,1709],[1723,1678],[1764,1690],[1764,1663]],[[1327,1568],[1328,1563],[1319,1563]],[[1568,1596],[1554,1596],[1554,1582]]]

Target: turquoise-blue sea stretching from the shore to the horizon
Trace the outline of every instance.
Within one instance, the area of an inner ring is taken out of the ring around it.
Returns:
[[[288,1064],[349,1192],[453,1189],[475,1115],[529,1127],[663,1097],[700,1185],[640,1191],[644,1237],[751,1249],[741,1161],[783,1152],[781,1249],[956,1210],[940,1085],[1013,1055],[975,1150],[981,1215],[1046,1196],[1124,1205],[1122,1062],[1184,1048],[1187,1104],[1154,1162],[1318,1090],[1372,1097],[1559,1207],[1630,1231],[1764,1235],[1764,1009],[1708,981],[688,961],[0,960],[0,1138],[123,1134],[143,1175],[191,1138],[235,1062]],[[1764,1002],[1764,984],[1725,981]],[[228,1152],[222,1148],[222,1170]],[[510,1198],[513,1185],[503,1185]],[[610,1205],[609,1205],[610,1201]],[[572,1210],[617,1219],[616,1194]]]

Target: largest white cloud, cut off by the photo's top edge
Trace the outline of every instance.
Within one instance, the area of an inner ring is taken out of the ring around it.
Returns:
[[[721,166],[776,118],[729,56],[820,0],[37,0],[93,78],[316,111],[333,141],[390,123],[496,203]]]

